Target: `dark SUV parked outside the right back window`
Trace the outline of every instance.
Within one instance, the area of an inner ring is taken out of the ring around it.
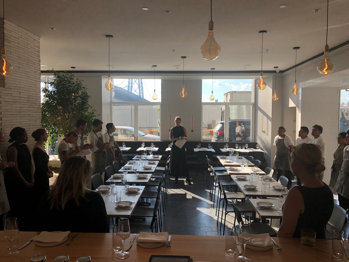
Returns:
[[[243,123],[245,126],[245,132],[240,137],[236,136],[236,123],[241,126]],[[238,138],[238,140],[236,140]],[[224,121],[218,122],[213,129],[212,142],[224,141]],[[251,142],[251,120],[229,120],[229,141],[246,141]]]

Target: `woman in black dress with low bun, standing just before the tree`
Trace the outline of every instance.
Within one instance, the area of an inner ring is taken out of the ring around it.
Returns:
[[[40,201],[41,197],[45,195],[46,191],[49,191],[49,178],[53,176],[53,172],[48,166],[49,155],[46,154],[44,149],[44,143],[49,137],[45,129],[39,128],[35,130],[32,134],[34,140],[37,141],[32,155],[35,164],[34,172],[34,192],[37,203]]]

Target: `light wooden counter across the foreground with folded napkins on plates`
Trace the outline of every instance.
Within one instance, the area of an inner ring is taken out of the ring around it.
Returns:
[[[130,224],[132,233],[132,223]],[[18,236],[18,246],[22,246],[29,239],[34,237],[37,232],[20,232]],[[65,245],[74,235],[77,238],[72,245]],[[125,240],[125,246],[130,239]],[[273,238],[282,248],[276,250],[275,246],[267,251],[255,251],[246,248],[246,256],[252,259],[252,262],[318,262],[318,261],[347,261],[345,255],[342,259],[334,259],[332,256],[332,240],[317,239],[315,246],[306,246],[300,243],[299,238]],[[344,245],[349,249],[347,241]],[[243,248],[242,248],[243,250]],[[172,235],[171,247],[162,246],[159,248],[148,249],[137,245],[136,240],[128,250],[130,256],[125,261],[147,262],[151,255],[183,255],[190,256],[193,262],[224,262],[237,261],[238,253],[235,255],[225,254],[225,236],[200,236],[200,235]],[[243,251],[242,251],[243,252]],[[34,255],[46,255],[47,261],[53,261],[58,255],[68,255],[70,261],[75,261],[81,256],[90,256],[92,262],[120,261],[116,255],[119,252],[112,250],[111,233],[74,233],[68,235],[65,243],[54,247],[39,247],[35,242],[31,242],[27,247],[20,250],[16,257],[5,257],[8,253],[7,240],[0,238],[0,260],[7,262],[14,259],[30,261]]]

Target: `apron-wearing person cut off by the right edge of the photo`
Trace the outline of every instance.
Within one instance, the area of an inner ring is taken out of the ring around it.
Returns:
[[[333,189],[338,194],[339,205],[347,211],[349,209],[349,131],[347,132],[345,142],[346,146],[343,148],[343,163]]]

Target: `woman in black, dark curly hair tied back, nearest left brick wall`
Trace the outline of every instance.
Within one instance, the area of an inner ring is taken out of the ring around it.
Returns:
[[[9,217],[16,217],[21,231],[32,229],[34,172],[28,146],[27,131],[16,127],[10,132],[7,161],[15,163],[5,173],[5,185],[10,204]]]

